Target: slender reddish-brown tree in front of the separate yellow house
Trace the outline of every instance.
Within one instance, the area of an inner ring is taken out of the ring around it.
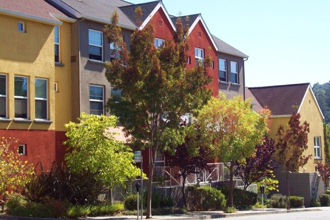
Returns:
[[[300,114],[293,112],[288,127],[283,125],[277,130],[276,149],[278,150],[279,163],[283,165],[286,176],[286,204],[290,209],[289,172],[294,172],[299,167],[307,164],[312,155],[303,155],[308,148],[309,123],[300,123]]]

